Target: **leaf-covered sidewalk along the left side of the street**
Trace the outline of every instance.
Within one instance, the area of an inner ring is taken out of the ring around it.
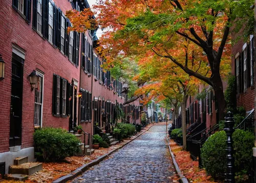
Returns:
[[[101,155],[107,154],[110,151],[117,149],[124,145],[127,142],[130,142],[134,138],[136,138],[139,134],[150,128],[152,124],[146,126],[141,132],[137,133],[136,135],[132,136],[129,139],[124,139],[123,142],[118,143],[115,146],[111,146],[109,148],[99,148],[96,149],[91,156],[71,156],[65,159],[65,162],[59,163],[43,163],[42,170],[36,172],[29,176],[29,179],[25,182],[53,182],[57,178],[67,175],[72,171],[76,170],[78,167],[88,164],[92,162],[94,159],[98,158]],[[0,180],[1,183],[5,182],[13,182],[13,183],[20,183],[22,181],[10,181],[10,180]]]

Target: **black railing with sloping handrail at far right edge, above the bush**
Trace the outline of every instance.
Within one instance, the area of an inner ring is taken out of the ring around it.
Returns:
[[[248,112],[247,117],[234,129],[243,129],[244,131],[250,131],[254,133],[254,109]]]

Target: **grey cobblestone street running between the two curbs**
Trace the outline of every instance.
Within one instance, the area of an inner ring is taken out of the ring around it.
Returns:
[[[73,182],[173,182],[164,124],[151,127]]]

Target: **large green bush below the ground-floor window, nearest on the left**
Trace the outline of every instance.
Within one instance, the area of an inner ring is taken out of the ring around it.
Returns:
[[[36,156],[42,161],[63,161],[80,151],[80,140],[61,128],[42,128],[34,133]]]

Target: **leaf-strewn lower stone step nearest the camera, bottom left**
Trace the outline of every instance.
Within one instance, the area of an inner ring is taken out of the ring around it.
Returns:
[[[9,173],[11,174],[24,174],[31,175],[42,169],[42,163],[24,163],[22,165],[13,165],[9,168]]]

